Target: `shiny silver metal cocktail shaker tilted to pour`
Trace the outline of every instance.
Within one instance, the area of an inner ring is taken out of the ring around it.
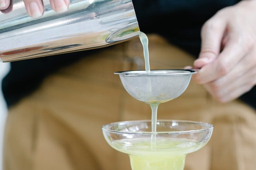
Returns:
[[[140,33],[132,0],[70,0],[65,13],[43,2],[44,14],[37,19],[28,16],[22,0],[0,13],[2,62],[105,47]]]

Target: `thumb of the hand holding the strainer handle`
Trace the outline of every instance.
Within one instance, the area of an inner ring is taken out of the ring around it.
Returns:
[[[202,68],[219,55],[225,29],[226,24],[219,18],[212,18],[203,25],[201,51],[194,62],[195,68]]]

